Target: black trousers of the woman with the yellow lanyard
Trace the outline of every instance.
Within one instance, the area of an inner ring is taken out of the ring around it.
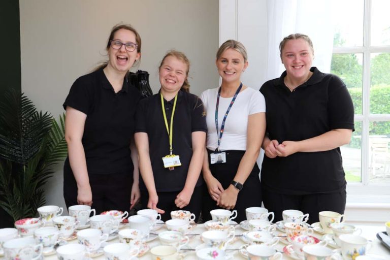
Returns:
[[[199,215],[201,214],[202,209],[202,188],[203,185],[195,187],[193,189],[191,200],[189,201],[189,204],[182,208],[181,210],[187,210],[191,213],[195,214],[195,222],[198,221]],[[171,219],[171,211],[180,210],[178,207],[176,207],[175,200],[177,194],[180,193],[179,191],[166,191],[166,192],[158,192],[158,203],[157,208],[162,209],[165,211],[164,214],[161,214],[161,220],[164,222]],[[149,193],[147,190],[141,190],[141,205],[143,209],[148,208],[148,201],[149,201]]]

